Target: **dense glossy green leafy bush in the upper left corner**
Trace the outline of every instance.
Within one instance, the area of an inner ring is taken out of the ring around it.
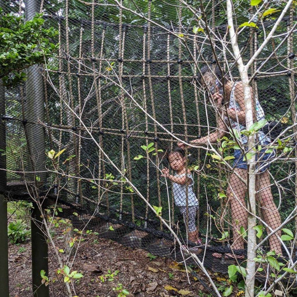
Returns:
[[[26,80],[29,66],[42,64],[52,57],[57,45],[50,42],[57,31],[43,27],[42,14],[25,22],[23,16],[5,13],[0,8],[0,78],[12,86]]]

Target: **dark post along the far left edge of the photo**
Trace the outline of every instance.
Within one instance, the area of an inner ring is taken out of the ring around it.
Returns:
[[[1,1],[0,1],[1,4]],[[3,6],[2,6],[3,7]],[[5,114],[5,88],[0,80],[0,116]],[[0,120],[0,191],[6,188],[6,135],[5,121]],[[8,280],[8,238],[7,238],[7,202],[0,194],[0,292],[1,296],[9,297]]]

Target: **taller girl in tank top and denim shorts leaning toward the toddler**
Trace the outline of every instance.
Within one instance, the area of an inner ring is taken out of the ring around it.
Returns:
[[[222,74],[219,67],[216,65],[206,64],[200,69],[201,72],[201,84],[210,90],[210,97],[213,99],[213,104],[217,105],[219,110],[223,111],[224,121],[219,119],[217,124],[217,130],[199,139],[190,141],[190,144],[201,145],[204,143],[217,143],[217,139],[221,139],[225,134],[228,125],[229,128],[236,129],[238,134],[241,135],[241,130],[245,129],[245,103],[244,103],[244,89],[242,83],[233,83]],[[223,83],[224,80],[224,83]],[[214,91],[214,93],[213,93]],[[223,94],[225,93],[225,100],[223,102]],[[252,93],[252,89],[251,89]],[[252,93],[253,96],[253,93]],[[255,98],[253,106],[254,122],[265,119],[264,111]],[[225,104],[226,110],[222,104]],[[265,147],[270,139],[259,131],[257,133],[258,140],[257,145],[260,144]],[[247,137],[241,135],[241,141],[244,146],[247,146]],[[178,143],[180,148],[184,148],[183,143]],[[271,164],[271,160],[274,158],[273,153],[265,153],[266,149],[260,151],[260,156],[256,154],[256,171],[257,174],[257,199],[260,204],[260,210],[262,217],[266,224],[275,230],[281,225],[281,218],[279,211],[274,203],[273,195],[271,192],[270,176],[267,168]],[[247,162],[244,161],[244,155],[241,150],[234,150],[234,172],[229,176],[229,186],[227,189],[228,198],[230,201],[230,209],[233,225],[233,244],[231,248],[234,250],[244,249],[244,238],[241,236],[239,228],[242,226],[247,230],[247,211],[245,210],[246,202],[245,195],[247,192],[247,185],[244,181],[247,180]],[[239,176],[241,178],[239,178]],[[267,228],[268,234],[270,230]],[[277,254],[282,255],[281,243],[278,240],[281,230],[278,230],[269,237],[269,244],[271,250],[274,250]],[[221,258],[222,255],[214,253],[214,257]],[[234,255],[233,253],[225,254],[226,257],[235,260],[243,259],[243,255]]]

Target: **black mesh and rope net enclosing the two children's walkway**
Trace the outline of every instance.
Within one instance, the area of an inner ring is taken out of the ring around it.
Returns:
[[[207,244],[204,264],[224,271],[228,243],[235,255],[244,258],[246,252],[245,158],[255,155],[257,216],[267,224],[259,227],[258,240],[288,217],[285,228],[295,230],[293,4],[248,73],[254,121],[276,121],[282,129],[274,127],[275,141],[264,130],[267,123],[251,130],[254,150],[244,156],[249,132],[242,132],[243,87],[225,4],[202,1],[205,13],[199,14],[200,4],[189,1],[197,8],[194,15],[183,1],[139,1],[137,7],[124,2],[28,0],[4,6],[3,13],[27,19],[43,12],[45,27],[58,32],[51,42],[59,50],[46,64],[29,67],[24,84],[5,88],[2,192],[13,199],[37,195],[45,207],[57,201],[59,217],[71,218],[75,228],[88,222],[99,236],[182,260],[165,221],[188,247]],[[238,22],[252,16],[247,2],[234,4]],[[284,9],[284,3],[271,2]],[[244,63],[278,16],[261,20],[258,29],[238,29]],[[223,94],[221,106],[209,92]],[[236,110],[241,113],[234,115]],[[217,138],[210,144],[213,132]],[[178,142],[193,140],[198,148],[176,149]],[[276,235],[265,245],[282,252]]]

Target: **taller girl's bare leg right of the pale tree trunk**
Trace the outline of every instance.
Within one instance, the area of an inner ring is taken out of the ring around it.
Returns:
[[[279,227],[279,225],[281,225],[281,218],[279,215],[279,211],[277,210],[277,207],[273,201],[270,187],[270,178],[267,170],[258,176],[257,185],[258,190],[260,191],[258,197],[260,200],[260,208],[263,220],[268,226],[270,226],[271,229],[276,229]],[[270,233],[268,229],[267,232]],[[277,238],[277,235],[280,237],[281,234],[282,231],[279,230],[277,233],[272,235],[269,238],[269,245],[270,249],[274,250],[276,254],[282,255],[281,243]]]

